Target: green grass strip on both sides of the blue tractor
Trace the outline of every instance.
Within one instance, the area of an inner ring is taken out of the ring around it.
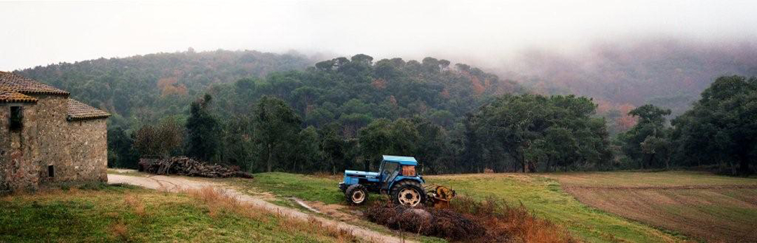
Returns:
[[[502,198],[510,204],[524,204],[539,217],[553,220],[576,237],[590,242],[675,242],[681,235],[626,220],[611,213],[587,207],[562,191],[557,179],[541,175],[475,174],[425,176],[429,183],[452,186],[460,195],[484,199]],[[282,197],[307,201],[344,204],[336,185],[338,177],[316,177],[288,173],[260,173],[254,180],[240,181]],[[378,195],[371,195],[372,200]]]

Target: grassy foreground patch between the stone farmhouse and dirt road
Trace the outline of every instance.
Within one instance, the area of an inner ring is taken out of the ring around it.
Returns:
[[[118,185],[8,195],[0,198],[0,242],[359,241],[230,200]]]

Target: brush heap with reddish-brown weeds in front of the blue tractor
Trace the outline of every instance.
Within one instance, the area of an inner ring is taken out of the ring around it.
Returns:
[[[446,209],[374,204],[365,214],[391,229],[454,242],[579,242],[564,227],[537,217],[523,205],[510,207],[494,198],[477,201],[461,196]]]

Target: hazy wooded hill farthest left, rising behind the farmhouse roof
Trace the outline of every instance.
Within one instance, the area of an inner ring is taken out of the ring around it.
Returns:
[[[259,51],[188,51],[100,58],[18,70],[22,76],[71,92],[83,101],[121,120],[157,120],[182,114],[205,90],[251,76],[282,70],[302,70],[311,61],[304,55]]]

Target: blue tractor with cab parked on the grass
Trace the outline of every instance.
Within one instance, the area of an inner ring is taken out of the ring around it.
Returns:
[[[427,196],[417,165],[415,157],[384,155],[378,172],[344,170],[339,189],[353,205],[365,204],[368,192],[375,192],[388,194],[394,204],[415,207],[424,204]]]

